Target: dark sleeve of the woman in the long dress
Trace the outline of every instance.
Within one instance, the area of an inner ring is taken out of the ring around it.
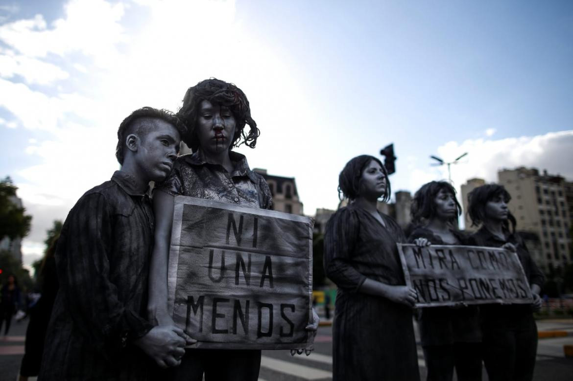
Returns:
[[[358,291],[366,280],[352,265],[359,232],[358,216],[344,208],[328,220],[324,233],[324,271],[342,289]]]

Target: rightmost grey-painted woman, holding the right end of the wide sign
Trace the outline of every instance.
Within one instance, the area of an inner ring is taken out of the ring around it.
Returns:
[[[543,273],[523,239],[515,232],[515,217],[508,211],[511,196],[501,185],[482,185],[468,195],[472,224],[481,228],[473,245],[503,247],[517,252],[533,293],[532,304],[480,305],[482,351],[490,381],[531,380],[537,352],[537,326],[533,310],[541,307]]]

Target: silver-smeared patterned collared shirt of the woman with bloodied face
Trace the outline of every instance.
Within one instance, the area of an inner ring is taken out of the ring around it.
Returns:
[[[170,175],[161,184],[157,184],[155,189],[172,196],[184,195],[269,209],[272,195],[265,179],[250,170],[242,154],[231,151],[229,157],[234,163],[231,173],[222,165],[205,161],[201,150],[179,156]]]

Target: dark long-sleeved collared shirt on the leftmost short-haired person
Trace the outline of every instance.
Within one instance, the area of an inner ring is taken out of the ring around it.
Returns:
[[[153,231],[150,199],[124,172],[74,205],[56,249],[42,380],[147,378],[150,359],[132,341],[152,328],[143,316]]]

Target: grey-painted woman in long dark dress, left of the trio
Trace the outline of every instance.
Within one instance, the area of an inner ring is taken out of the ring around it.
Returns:
[[[375,157],[355,157],[340,172],[339,192],[350,203],[324,236],[324,269],[338,286],[333,380],[417,380],[416,293],[406,286],[396,245],[406,238],[376,208],[390,199],[388,173]]]

